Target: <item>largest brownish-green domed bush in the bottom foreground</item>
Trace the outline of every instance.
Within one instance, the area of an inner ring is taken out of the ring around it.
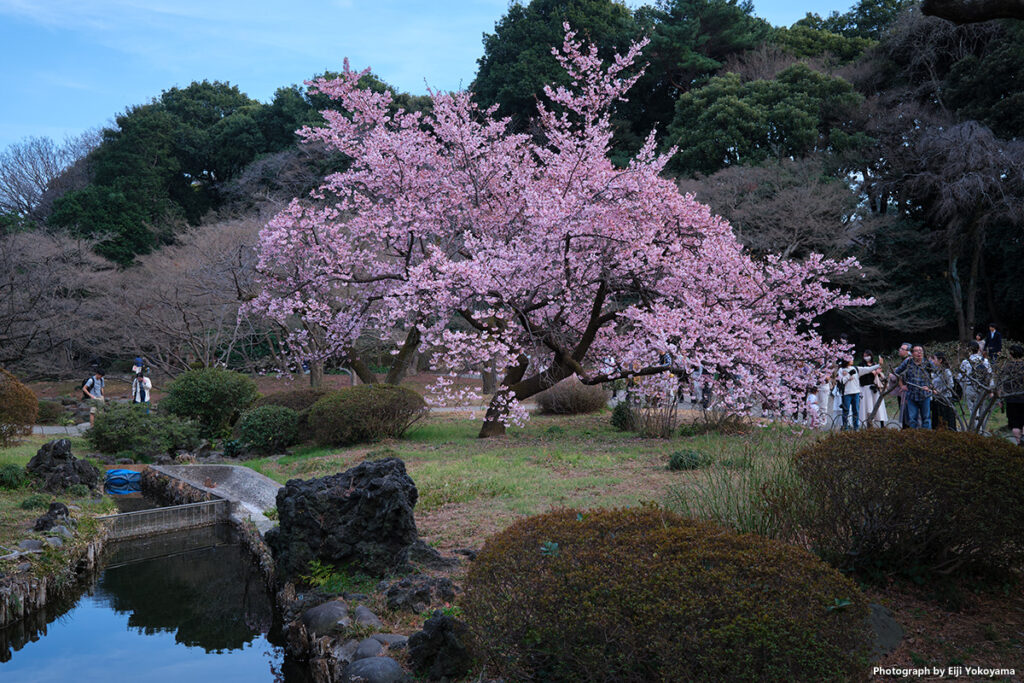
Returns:
[[[484,544],[461,600],[507,680],[866,677],[867,603],[810,553],[652,507],[558,510]]]

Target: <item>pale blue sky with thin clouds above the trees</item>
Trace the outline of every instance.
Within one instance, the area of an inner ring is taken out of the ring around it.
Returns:
[[[631,0],[637,6],[641,2]],[[788,26],[852,0],[755,0]],[[172,86],[219,80],[268,101],[325,70],[422,93],[469,85],[508,0],[0,0],[0,148],[110,124]]]

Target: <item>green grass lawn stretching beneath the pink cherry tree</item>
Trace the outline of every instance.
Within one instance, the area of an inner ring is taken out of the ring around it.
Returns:
[[[670,455],[680,449],[741,467],[744,458],[769,445],[776,450],[811,438],[803,430],[769,427],[754,428],[745,437],[646,439],[613,429],[607,413],[534,417],[504,438],[478,439],[478,421],[432,416],[398,441],[300,446],[292,456],[246,464],[284,482],[334,474],[367,458],[396,456],[420,494],[420,535],[440,549],[478,548],[515,518],[552,508],[664,504],[671,490],[697,476],[667,469]]]

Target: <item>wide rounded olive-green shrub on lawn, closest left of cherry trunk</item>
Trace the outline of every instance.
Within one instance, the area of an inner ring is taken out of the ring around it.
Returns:
[[[407,387],[360,384],[330,393],[309,409],[309,428],[321,445],[349,445],[398,438],[427,412]]]

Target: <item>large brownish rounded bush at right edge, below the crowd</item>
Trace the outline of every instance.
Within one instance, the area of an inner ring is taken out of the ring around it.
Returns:
[[[796,456],[812,547],[866,575],[953,575],[1024,562],[1024,450],[976,434],[869,429]]]

